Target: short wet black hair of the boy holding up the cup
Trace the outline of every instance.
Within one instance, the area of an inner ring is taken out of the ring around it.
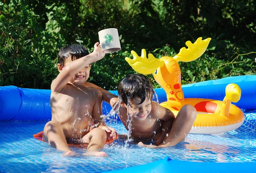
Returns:
[[[89,54],[89,51],[83,45],[73,44],[66,45],[61,48],[58,53],[58,63],[61,64],[61,67],[65,65],[65,61],[68,57],[71,57],[71,60],[77,60],[81,57],[84,57]]]

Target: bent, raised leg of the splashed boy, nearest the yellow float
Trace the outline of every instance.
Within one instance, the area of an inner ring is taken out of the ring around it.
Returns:
[[[172,130],[164,139],[165,144],[161,145],[175,146],[177,143],[183,141],[191,130],[196,115],[196,109],[192,105],[184,105],[172,124]]]

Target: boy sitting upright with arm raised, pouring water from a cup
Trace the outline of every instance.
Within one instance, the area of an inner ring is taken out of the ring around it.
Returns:
[[[106,156],[99,151],[107,140],[106,132],[116,137],[115,129],[105,126],[101,117],[101,92],[87,82],[91,63],[104,56],[99,43],[91,54],[82,45],[67,45],[59,51],[59,74],[51,84],[52,120],[44,127],[43,140],[65,151],[65,155],[74,154],[67,145],[67,141],[73,141],[88,144],[87,155]]]

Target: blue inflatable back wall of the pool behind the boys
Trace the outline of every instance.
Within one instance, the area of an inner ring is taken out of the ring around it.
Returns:
[[[226,77],[223,79],[183,85],[185,98],[204,98],[223,100],[225,88],[229,83],[236,83],[241,88],[241,99],[233,103],[239,108],[256,109],[256,75]],[[166,92],[163,88],[155,89],[158,101],[165,102]],[[117,91],[110,91],[118,95]],[[16,86],[0,87],[0,121],[39,121],[51,119],[49,104],[50,90],[18,88]],[[154,101],[157,101],[154,96]],[[108,114],[111,106],[103,102],[103,114]]]

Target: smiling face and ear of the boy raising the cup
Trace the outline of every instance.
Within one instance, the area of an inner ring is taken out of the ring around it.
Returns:
[[[70,62],[72,62],[71,57],[68,57],[65,61],[64,68],[69,68]],[[90,67],[91,67],[91,64],[85,66],[77,74],[75,74],[69,81],[75,85],[83,85],[84,82],[86,82],[90,76]]]

